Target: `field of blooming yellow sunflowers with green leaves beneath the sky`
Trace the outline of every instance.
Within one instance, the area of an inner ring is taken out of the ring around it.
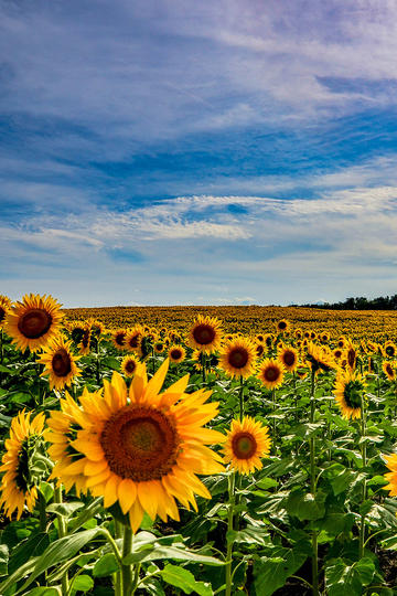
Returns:
[[[396,339],[0,296],[0,594],[397,594]]]

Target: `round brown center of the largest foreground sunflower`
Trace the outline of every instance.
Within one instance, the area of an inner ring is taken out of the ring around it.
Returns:
[[[100,445],[111,471],[135,482],[160,480],[176,464],[181,439],[172,419],[146,406],[125,406],[105,424]]]

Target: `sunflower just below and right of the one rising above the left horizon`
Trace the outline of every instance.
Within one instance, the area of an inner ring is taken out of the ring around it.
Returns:
[[[75,376],[82,374],[76,366],[78,358],[72,353],[72,341],[66,341],[62,336],[50,342],[39,360],[45,366],[41,376],[50,376],[50,389],[64,389],[72,384]]]

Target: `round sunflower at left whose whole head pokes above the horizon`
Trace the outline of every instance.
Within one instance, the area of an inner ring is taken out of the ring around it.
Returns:
[[[61,327],[61,305],[52,296],[30,294],[6,315],[6,332],[24,352],[36,352],[55,337]]]

